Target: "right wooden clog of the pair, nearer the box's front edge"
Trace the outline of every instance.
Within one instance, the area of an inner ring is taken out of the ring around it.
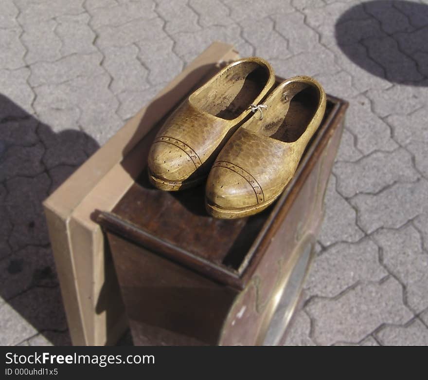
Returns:
[[[218,154],[206,185],[207,211],[240,218],[266,209],[293,177],[307,143],[321,124],[325,93],[308,76],[281,83]]]

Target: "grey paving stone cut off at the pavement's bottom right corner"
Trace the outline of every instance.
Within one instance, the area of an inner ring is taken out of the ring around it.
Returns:
[[[387,346],[427,346],[428,328],[415,319],[409,326],[385,326],[376,333],[383,345]]]

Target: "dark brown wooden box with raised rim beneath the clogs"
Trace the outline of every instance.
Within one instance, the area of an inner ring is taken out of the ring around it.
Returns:
[[[204,185],[153,188],[142,163],[112,212],[97,216],[134,344],[281,344],[313,256],[346,108],[327,97],[322,125],[294,178],[271,207],[248,218],[210,217]],[[142,149],[148,152],[161,124]]]

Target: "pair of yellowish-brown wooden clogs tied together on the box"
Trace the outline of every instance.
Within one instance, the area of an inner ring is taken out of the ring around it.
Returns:
[[[208,174],[206,208],[214,217],[266,209],[292,178],[326,104],[324,90],[311,77],[287,79],[271,91],[274,84],[269,63],[251,57],[198,88],[153,142],[151,183],[181,190]]]

